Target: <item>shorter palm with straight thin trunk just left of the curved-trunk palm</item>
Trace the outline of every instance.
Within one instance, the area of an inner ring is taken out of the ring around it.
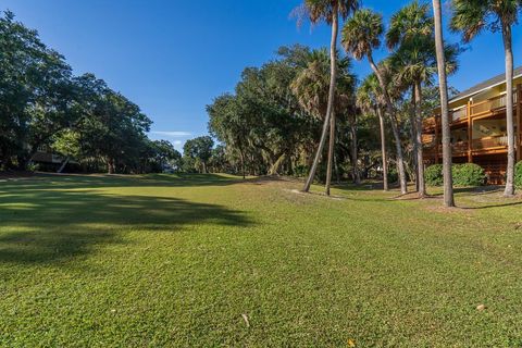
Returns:
[[[375,74],[369,75],[357,90],[357,105],[363,112],[374,113],[378,116],[381,129],[381,156],[383,161],[383,189],[388,188],[388,163],[386,158],[386,130],[384,125],[383,105],[385,104],[381,87]]]

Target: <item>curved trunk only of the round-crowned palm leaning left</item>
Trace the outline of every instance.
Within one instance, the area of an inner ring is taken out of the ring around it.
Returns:
[[[402,147],[400,145],[400,134],[397,117],[394,112],[394,105],[391,104],[391,99],[389,98],[388,90],[386,89],[386,83],[384,82],[384,77],[381,74],[377,65],[375,65],[372,54],[368,54],[368,61],[370,62],[370,66],[372,67],[373,72],[377,76],[378,84],[383,91],[384,100],[386,102],[386,111],[391,122],[391,130],[394,133],[395,138],[395,148],[397,151],[397,170],[399,172],[399,183],[400,183],[400,194],[406,195],[408,194],[408,185],[406,181],[406,171],[405,171],[405,157],[402,153]]]

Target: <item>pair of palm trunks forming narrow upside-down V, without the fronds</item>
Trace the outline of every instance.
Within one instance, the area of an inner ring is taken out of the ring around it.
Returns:
[[[339,21],[337,7],[334,7],[333,13],[334,15],[332,21],[332,42],[330,45],[331,76],[330,76],[328,105],[326,108],[326,115],[324,116],[323,132],[321,134],[321,141],[319,142],[318,152],[315,153],[315,159],[313,160],[312,167],[310,169],[310,174],[308,176],[308,179],[304,183],[304,187],[302,188],[302,191],[304,192],[308,192],[310,190],[310,186],[312,185],[313,178],[315,177],[315,172],[318,170],[319,161],[323,152],[324,144],[326,142],[326,134],[328,132],[328,125],[330,125],[331,132],[330,132],[330,148],[328,148],[328,165],[326,171],[326,186],[325,186],[326,195],[330,195],[330,185],[332,181],[332,162],[333,162],[334,141],[335,141],[334,98],[335,98],[335,83],[337,78],[336,46],[337,46],[338,21]]]

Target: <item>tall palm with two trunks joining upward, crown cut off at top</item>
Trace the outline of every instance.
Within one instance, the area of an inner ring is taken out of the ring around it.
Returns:
[[[328,102],[326,108],[326,114],[324,117],[323,130],[321,134],[321,140],[319,144],[318,152],[313,160],[312,167],[307,182],[304,183],[303,191],[308,192],[312,185],[315,172],[318,170],[319,160],[323,152],[324,144],[326,142],[326,134],[328,132],[330,124],[330,147],[328,147],[328,164],[326,171],[326,195],[330,195],[330,185],[332,181],[332,163],[334,158],[334,145],[335,145],[335,113],[334,113],[334,98],[335,98],[335,83],[337,75],[337,36],[339,30],[339,15],[343,18],[348,17],[350,13],[355,12],[359,8],[359,0],[304,0],[304,3],[298,10],[298,15],[302,17],[302,14],[308,14],[310,22],[319,23],[326,22],[332,25],[332,40],[330,45],[331,57],[331,76],[330,76],[330,90]]]

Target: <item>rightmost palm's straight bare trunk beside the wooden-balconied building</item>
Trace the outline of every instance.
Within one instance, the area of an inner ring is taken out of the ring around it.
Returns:
[[[508,128],[508,167],[506,170],[505,197],[514,195],[514,122],[513,122],[513,51],[511,26],[502,25],[504,50],[506,53],[506,126]]]

